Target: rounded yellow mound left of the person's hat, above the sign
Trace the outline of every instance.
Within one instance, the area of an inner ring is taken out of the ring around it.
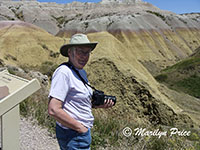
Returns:
[[[58,49],[63,43],[64,39],[32,24],[0,22],[0,58],[6,64],[36,66],[47,60],[57,62]]]

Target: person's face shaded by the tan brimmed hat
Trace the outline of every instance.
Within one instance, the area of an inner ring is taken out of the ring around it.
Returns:
[[[83,69],[89,60],[90,52],[90,47],[75,47],[75,50],[68,51],[69,60],[77,69]]]

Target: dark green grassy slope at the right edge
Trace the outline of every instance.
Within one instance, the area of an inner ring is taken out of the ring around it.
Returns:
[[[200,47],[183,61],[170,66],[155,78],[171,89],[200,98]]]

